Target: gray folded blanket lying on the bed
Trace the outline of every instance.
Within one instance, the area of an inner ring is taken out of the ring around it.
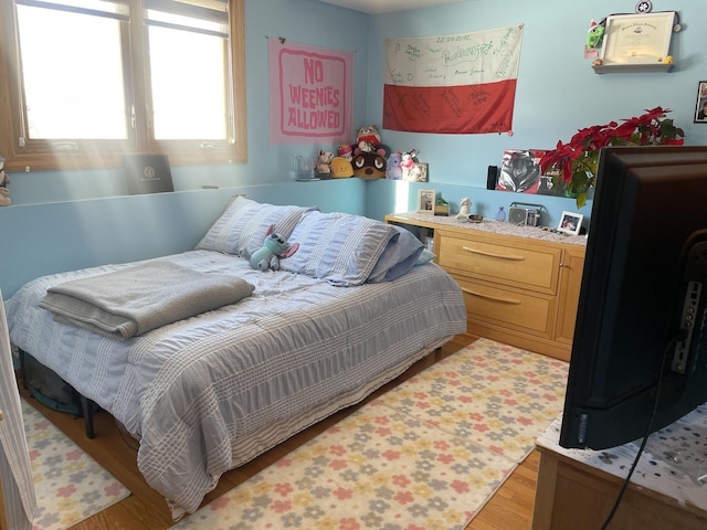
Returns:
[[[254,289],[242,278],[155,259],[50,287],[40,307],[55,320],[126,340],[235,304]]]

